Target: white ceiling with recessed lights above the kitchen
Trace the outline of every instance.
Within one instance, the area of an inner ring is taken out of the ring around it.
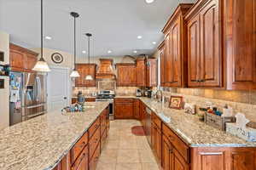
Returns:
[[[44,48],[73,53],[73,18],[77,20],[77,54],[85,56],[90,32],[92,56],[152,54],[163,40],[161,29],[178,3],[195,0],[44,0]],[[26,48],[40,47],[40,1],[0,0],[0,30],[11,42]],[[142,39],[137,39],[142,36]],[[153,44],[152,42],[156,42]],[[112,50],[108,54],[108,50]]]

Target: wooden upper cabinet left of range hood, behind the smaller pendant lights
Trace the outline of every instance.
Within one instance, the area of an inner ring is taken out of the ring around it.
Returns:
[[[80,77],[75,80],[76,87],[96,87],[96,64],[76,64]],[[93,80],[85,80],[86,75],[91,75]]]

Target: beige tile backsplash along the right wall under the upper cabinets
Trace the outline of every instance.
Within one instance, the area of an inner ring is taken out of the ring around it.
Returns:
[[[228,91],[217,89],[201,88],[164,88],[164,96],[170,98],[171,95],[183,96],[184,102],[194,103],[196,110],[211,102],[218,108],[229,105],[234,113],[241,112],[253,122],[256,122],[256,92],[253,91]]]

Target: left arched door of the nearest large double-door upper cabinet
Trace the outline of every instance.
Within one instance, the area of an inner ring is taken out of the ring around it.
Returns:
[[[200,85],[200,19],[195,16],[188,23],[188,61],[189,61],[189,87],[198,87]]]

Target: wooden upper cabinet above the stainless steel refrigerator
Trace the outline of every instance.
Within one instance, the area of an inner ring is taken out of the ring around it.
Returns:
[[[38,61],[38,54],[13,43],[9,45],[10,66],[12,71],[32,71]]]

